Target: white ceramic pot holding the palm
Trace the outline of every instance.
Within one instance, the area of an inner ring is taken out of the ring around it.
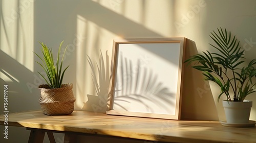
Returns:
[[[246,124],[249,123],[249,117],[252,107],[252,101],[228,102],[224,100],[223,107],[228,124]]]

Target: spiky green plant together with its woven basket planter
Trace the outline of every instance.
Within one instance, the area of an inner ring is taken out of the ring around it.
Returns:
[[[38,54],[35,55],[39,57],[42,63],[37,62],[46,73],[46,77],[39,73],[42,78],[45,79],[47,84],[39,85],[41,91],[41,97],[39,103],[41,105],[42,111],[47,115],[60,115],[60,114],[70,114],[74,110],[74,94],[73,94],[73,84],[62,84],[62,80],[65,71],[69,65],[62,71],[63,57],[66,53],[67,47],[63,53],[63,57],[60,61],[59,55],[61,50],[61,45],[59,45],[57,61],[55,63],[52,49],[46,44],[39,42],[41,44],[42,57]]]

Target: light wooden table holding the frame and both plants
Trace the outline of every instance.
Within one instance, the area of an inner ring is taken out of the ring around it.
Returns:
[[[0,125],[4,120],[1,115]],[[31,130],[29,142],[42,142],[45,133],[55,142],[53,132],[65,133],[65,140],[71,142],[78,134],[159,142],[256,142],[256,127],[232,128],[211,121],[159,120],[87,111],[58,116],[44,115],[41,110],[10,113],[8,126]]]

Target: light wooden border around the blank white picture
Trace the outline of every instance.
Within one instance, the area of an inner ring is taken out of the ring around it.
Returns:
[[[175,114],[156,114],[156,113],[140,113],[130,111],[118,111],[114,110],[115,100],[115,78],[117,74],[117,59],[119,44],[126,43],[180,43],[180,56],[179,56],[179,70],[178,70],[178,89],[176,97],[176,109]],[[112,77],[110,80],[109,98],[108,98],[108,109],[106,114],[109,115],[123,115],[123,116],[137,116],[137,117],[151,117],[151,118],[163,118],[170,120],[180,120],[181,115],[181,100],[182,100],[182,84],[183,84],[183,68],[185,58],[185,44],[186,38],[130,38],[130,39],[114,39],[113,40],[113,53],[112,53]]]

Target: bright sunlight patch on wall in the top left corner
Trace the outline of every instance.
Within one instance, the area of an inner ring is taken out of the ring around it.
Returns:
[[[0,50],[33,71],[34,2],[29,0],[1,2]]]

